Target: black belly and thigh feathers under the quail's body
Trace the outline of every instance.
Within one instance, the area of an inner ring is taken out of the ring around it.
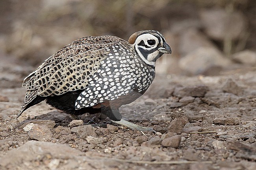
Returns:
[[[46,100],[46,103],[50,106],[62,110],[65,113],[73,114],[73,115],[82,115],[85,113],[95,114],[95,113],[102,113],[104,115],[107,115],[109,119],[113,121],[120,121],[122,119],[121,114],[119,113],[119,110],[111,110],[109,107],[102,107],[102,108],[81,108],[80,110],[75,109],[75,102],[80,93],[82,93],[83,90],[76,90],[76,91],[69,91],[67,93],[64,93],[63,95],[54,95],[54,96],[48,96],[48,97],[41,97],[37,96],[32,102],[28,104],[26,109],[30,108],[31,106],[38,104],[44,100]],[[26,110],[25,109],[25,110]]]

